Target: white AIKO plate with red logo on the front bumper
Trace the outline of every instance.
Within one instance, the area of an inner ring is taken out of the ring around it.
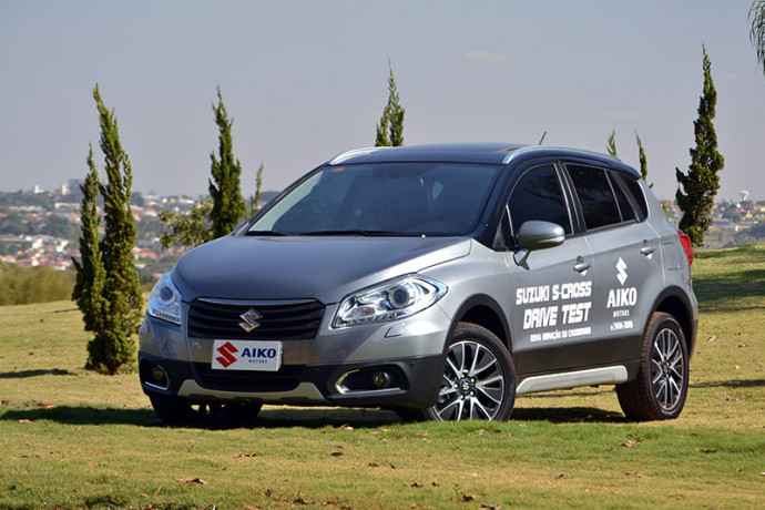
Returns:
[[[280,341],[215,340],[213,369],[277,371],[282,368]]]

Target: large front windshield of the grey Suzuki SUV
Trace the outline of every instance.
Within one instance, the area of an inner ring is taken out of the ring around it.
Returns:
[[[499,166],[373,163],[323,166],[280,197],[248,235],[465,235]]]

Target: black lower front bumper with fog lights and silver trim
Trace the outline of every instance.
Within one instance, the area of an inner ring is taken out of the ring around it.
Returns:
[[[177,396],[195,402],[422,408],[432,406],[438,398],[443,357],[286,365],[277,373],[234,373],[140,351],[139,367],[146,395]]]

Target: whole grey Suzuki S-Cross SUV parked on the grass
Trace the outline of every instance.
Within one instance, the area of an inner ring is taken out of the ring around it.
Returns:
[[[140,375],[167,422],[263,404],[504,420],[516,395],[616,385],[675,418],[692,252],[639,174],[550,146],[363,149],[318,166],[149,299]]]

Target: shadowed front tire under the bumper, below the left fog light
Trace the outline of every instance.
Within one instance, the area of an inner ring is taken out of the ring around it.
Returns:
[[[255,421],[262,404],[198,404],[177,397],[150,397],[154,412],[169,425],[243,426]]]

